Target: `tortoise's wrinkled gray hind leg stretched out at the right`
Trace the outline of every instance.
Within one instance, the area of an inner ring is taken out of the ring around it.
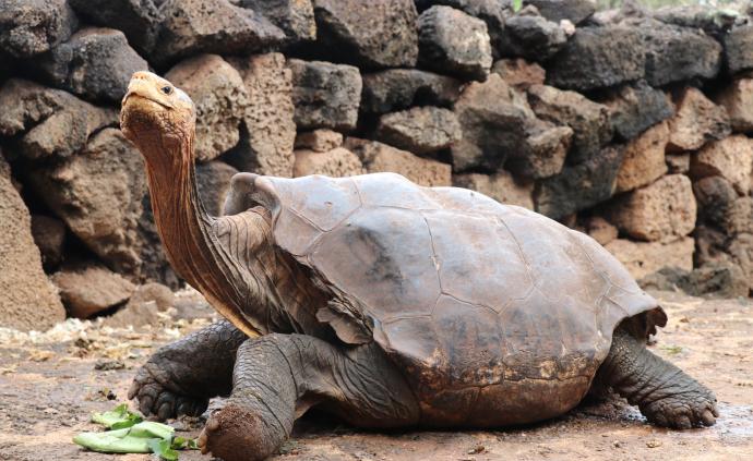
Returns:
[[[716,397],[701,383],[654,355],[630,332],[614,331],[609,355],[597,379],[636,404],[658,426],[689,429],[710,426],[719,413]]]

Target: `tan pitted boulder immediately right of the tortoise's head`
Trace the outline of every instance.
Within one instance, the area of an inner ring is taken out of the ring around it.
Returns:
[[[238,144],[248,94],[236,69],[217,54],[200,54],[170,69],[165,78],[196,106],[196,160],[212,160]]]

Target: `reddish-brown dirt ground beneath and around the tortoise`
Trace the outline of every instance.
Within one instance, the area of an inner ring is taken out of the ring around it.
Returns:
[[[670,316],[653,350],[717,395],[716,426],[649,426],[623,401],[584,403],[525,428],[373,434],[306,416],[275,460],[753,460],[753,303],[656,293]],[[134,369],[159,347],[211,322],[172,312],[162,325],[111,329],[69,320],[37,335],[0,330],[0,460],[141,461],[145,454],[84,451],[73,435],[96,430],[93,411],[125,401]],[[109,399],[109,400],[108,400]],[[200,422],[175,422],[195,436]],[[186,434],[181,434],[186,435]],[[208,460],[196,451],[181,460]]]

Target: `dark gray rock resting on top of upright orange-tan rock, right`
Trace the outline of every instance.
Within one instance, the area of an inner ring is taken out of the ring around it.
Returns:
[[[623,141],[634,138],[674,114],[667,96],[643,80],[610,90],[599,101],[609,108],[612,129]]]

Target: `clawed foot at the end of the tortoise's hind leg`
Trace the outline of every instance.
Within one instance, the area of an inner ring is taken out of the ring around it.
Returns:
[[[713,426],[719,416],[716,398],[705,388],[655,400],[641,405],[641,412],[650,423],[673,429]]]

